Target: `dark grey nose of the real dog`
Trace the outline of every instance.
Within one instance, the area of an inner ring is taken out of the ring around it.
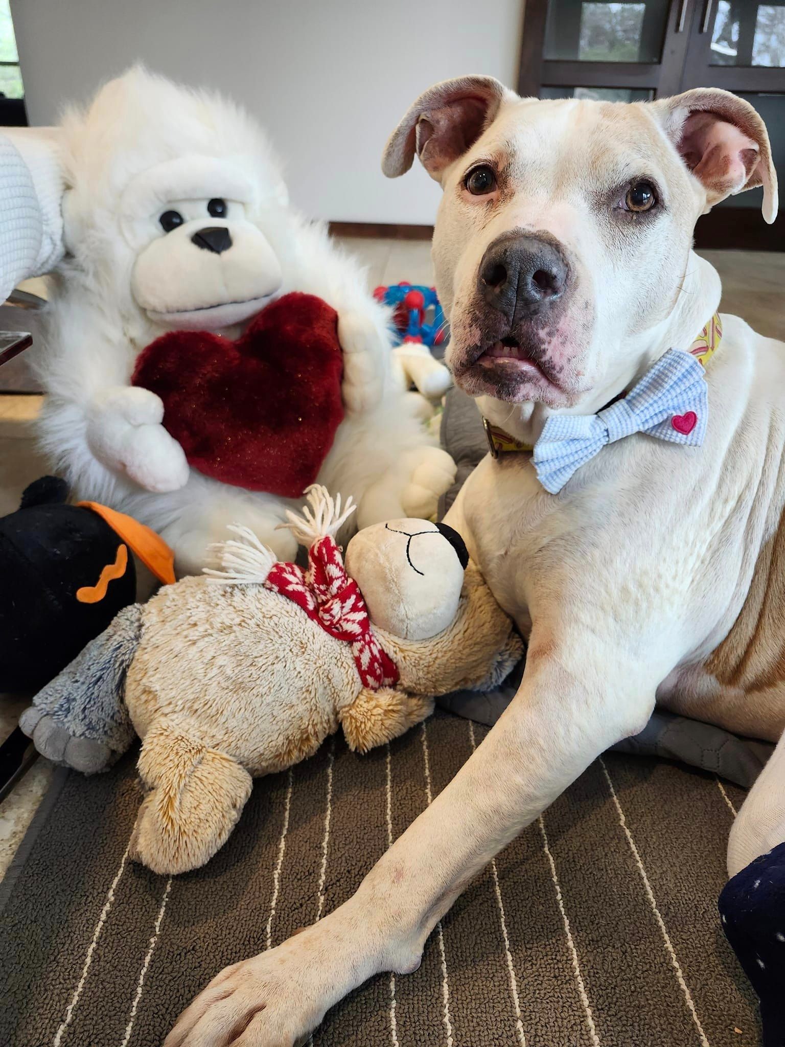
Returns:
[[[507,233],[483,255],[477,288],[488,305],[513,324],[548,309],[563,293],[567,271],[557,244],[542,237]]]

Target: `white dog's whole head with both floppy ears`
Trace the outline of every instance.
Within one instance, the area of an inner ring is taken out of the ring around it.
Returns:
[[[761,184],[777,211],[763,121],[719,90],[547,102],[463,77],[418,98],[384,173],[414,154],[444,190],[433,260],[456,381],[551,409],[597,409],[655,351],[699,215]]]

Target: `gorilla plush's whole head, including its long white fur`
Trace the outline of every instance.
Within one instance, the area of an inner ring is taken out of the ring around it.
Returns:
[[[215,330],[278,289],[265,229],[286,187],[238,107],[135,68],[69,114],[63,140],[66,246],[105,308]]]

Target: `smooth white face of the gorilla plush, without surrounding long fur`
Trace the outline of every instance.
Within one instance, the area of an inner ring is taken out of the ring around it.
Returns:
[[[133,178],[120,210],[136,305],[180,330],[219,330],[259,312],[282,283],[259,207],[231,158],[181,157]]]

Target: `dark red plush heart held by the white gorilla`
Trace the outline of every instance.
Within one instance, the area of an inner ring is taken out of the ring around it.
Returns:
[[[237,341],[172,331],[142,350],[131,379],[163,401],[188,463],[224,484],[299,497],[343,419],[338,314],[293,292]]]

